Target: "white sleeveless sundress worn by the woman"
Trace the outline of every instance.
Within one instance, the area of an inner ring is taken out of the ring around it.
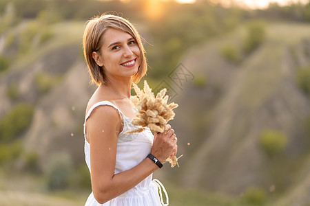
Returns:
[[[151,130],[147,128],[142,133],[132,133],[126,134],[127,130],[132,130],[137,128],[138,126],[134,126],[131,122],[132,119],[123,115],[121,110],[119,110],[114,104],[109,101],[97,102],[94,104],[90,110],[88,111],[85,122],[90,114],[97,106],[101,105],[110,105],[118,110],[118,112],[123,117],[123,130],[118,135],[117,141],[117,150],[116,150],[116,165],[114,174],[119,172],[123,172],[125,170],[130,170],[134,168],[134,166],[141,163],[149,152],[151,151],[154,135]],[[87,167],[90,170],[90,144],[86,140],[85,135],[85,122],[84,122],[84,152],[85,152],[85,161],[87,163]],[[91,171],[90,171],[91,172]],[[162,190],[165,193],[167,203],[163,203]],[[158,191],[161,197],[158,195]],[[91,193],[88,196],[85,206],[159,206],[159,205],[169,205],[169,199],[167,196],[167,192],[165,191],[165,187],[161,184],[160,181],[154,179],[152,180],[152,174],[147,176],[141,183],[138,183],[135,187],[127,192],[113,198],[111,201],[107,203],[100,204],[94,198],[94,194]]]

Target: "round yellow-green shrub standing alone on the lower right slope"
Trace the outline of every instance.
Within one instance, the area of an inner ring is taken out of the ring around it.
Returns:
[[[281,130],[265,129],[260,134],[260,146],[271,157],[285,150],[287,139]]]

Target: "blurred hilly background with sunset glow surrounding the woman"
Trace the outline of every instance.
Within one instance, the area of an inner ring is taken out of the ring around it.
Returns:
[[[90,194],[81,42],[103,12],[137,27],[143,80],[179,104],[180,168],[154,174],[170,205],[310,205],[310,3],[289,0],[1,0],[0,205]]]

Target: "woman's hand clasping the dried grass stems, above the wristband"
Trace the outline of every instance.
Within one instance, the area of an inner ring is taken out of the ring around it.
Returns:
[[[161,163],[163,163],[168,157],[174,157],[176,155],[176,134],[169,124],[167,129],[163,133],[154,134],[154,141],[151,153]],[[172,156],[173,155],[173,156]]]

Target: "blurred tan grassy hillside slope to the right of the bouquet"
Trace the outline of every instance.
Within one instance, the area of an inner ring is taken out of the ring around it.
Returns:
[[[255,186],[270,200],[285,196],[280,205],[310,203],[307,190],[300,189],[309,188],[309,177],[299,176],[309,161],[304,124],[310,102],[296,80],[298,69],[310,64],[309,34],[309,25],[270,23],[265,41],[232,62],[221,49],[230,44],[240,52],[246,35],[240,27],[184,56],[184,65],[207,80],[203,87],[189,82],[177,101],[184,108],[174,121],[186,154],[178,178],[184,186],[241,196]],[[266,130],[285,134],[282,152],[268,155],[262,148]]]

